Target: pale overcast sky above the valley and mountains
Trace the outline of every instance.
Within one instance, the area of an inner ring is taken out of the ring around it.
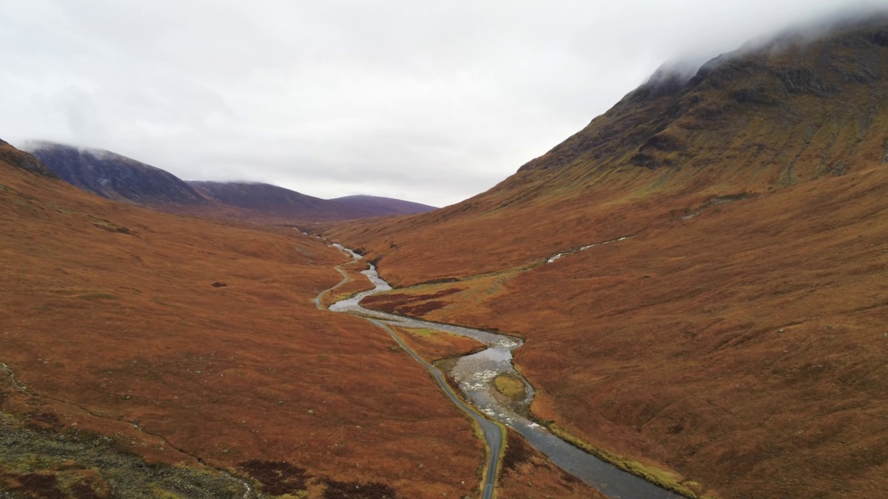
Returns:
[[[0,0],[0,139],[445,206],[666,61],[888,0]]]

